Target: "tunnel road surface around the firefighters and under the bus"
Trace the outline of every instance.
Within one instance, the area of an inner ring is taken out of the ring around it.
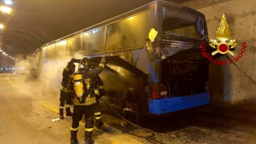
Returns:
[[[24,75],[0,74],[0,143],[2,144],[68,144],[71,118],[52,122],[58,118],[58,93],[40,95],[42,89],[29,89]],[[33,86],[40,84],[34,83]],[[95,144],[152,144],[150,136],[118,118],[102,107],[105,125],[95,129]],[[136,122],[135,115],[125,118]],[[197,111],[175,112],[160,117],[139,117],[143,127],[154,130],[155,139],[166,144],[256,144],[256,126]],[[84,120],[80,122],[79,143],[84,143]],[[156,143],[156,142],[153,142]]]

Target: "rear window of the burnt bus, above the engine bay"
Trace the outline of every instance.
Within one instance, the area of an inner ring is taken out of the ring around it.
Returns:
[[[167,6],[162,8],[162,17],[164,35],[204,38],[204,20],[201,17]]]

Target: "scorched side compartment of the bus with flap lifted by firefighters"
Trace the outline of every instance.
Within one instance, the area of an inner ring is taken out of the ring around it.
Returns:
[[[100,59],[91,58],[91,61],[98,63]],[[148,75],[119,56],[109,56],[106,62],[100,74],[105,89],[104,100],[112,107],[130,112],[147,111]]]

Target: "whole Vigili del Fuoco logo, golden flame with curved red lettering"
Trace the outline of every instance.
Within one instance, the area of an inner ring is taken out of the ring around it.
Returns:
[[[202,56],[204,58],[206,58],[209,61],[213,60],[214,55],[216,55],[217,53],[222,54],[222,55],[232,55],[234,56],[235,53],[232,52],[231,50],[234,50],[234,48],[236,47],[236,40],[230,40],[228,43],[227,41],[230,39],[231,35],[230,35],[230,31],[228,29],[228,24],[226,21],[226,17],[223,14],[222,18],[221,18],[221,22],[220,22],[220,27],[218,28],[217,32],[216,32],[216,37],[219,41],[217,40],[210,40],[210,44],[209,46],[211,46],[212,48],[216,49],[214,52],[212,52],[211,54],[206,52],[206,47],[204,46],[205,42],[200,44],[201,47],[201,51],[202,51]],[[246,48],[246,43],[243,42],[243,47],[241,48],[241,52],[235,57],[235,58],[229,58],[228,61],[231,64],[232,61],[238,61],[239,58],[242,58],[243,53],[245,52],[245,48]],[[227,60],[221,61],[219,59],[214,60],[214,64],[215,65],[227,65]]]

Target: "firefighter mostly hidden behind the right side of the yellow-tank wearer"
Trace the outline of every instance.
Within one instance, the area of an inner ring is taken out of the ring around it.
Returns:
[[[94,111],[94,115],[95,115],[95,121],[96,127],[102,127],[104,125],[104,123],[102,122],[102,116],[101,116],[101,110],[100,110],[100,106],[99,106],[99,98],[101,98],[104,95],[104,87],[103,87],[103,81],[102,79],[98,76],[95,83],[94,83],[94,92],[95,92],[95,96],[96,96],[96,107],[95,107],[95,111]]]

